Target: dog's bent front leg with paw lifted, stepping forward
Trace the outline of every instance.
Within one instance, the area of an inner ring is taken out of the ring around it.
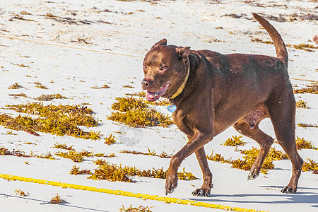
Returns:
[[[206,131],[194,130],[194,136],[192,139],[170,160],[170,166],[167,170],[167,178],[165,180],[165,193],[172,193],[177,187],[177,170],[181,165],[182,160],[187,158],[192,153],[202,148],[208,141],[213,138],[212,129]]]

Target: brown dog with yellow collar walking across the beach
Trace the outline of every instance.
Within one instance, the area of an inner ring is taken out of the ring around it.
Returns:
[[[170,160],[165,183],[166,193],[177,187],[177,169],[192,153],[203,172],[204,182],[192,194],[209,196],[212,173],[204,145],[229,126],[259,143],[260,151],[248,178],[259,175],[273,139],[259,129],[259,122],[270,117],[278,142],[293,165],[289,184],[281,192],[295,193],[302,169],[302,158],[295,143],[295,98],[288,77],[288,54],[275,28],[253,13],[271,36],[277,57],[251,54],[220,54],[208,50],[157,42],[143,61],[146,98],[163,96],[177,110],[172,117],[189,142]]]

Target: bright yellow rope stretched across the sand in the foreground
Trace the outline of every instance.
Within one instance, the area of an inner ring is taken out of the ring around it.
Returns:
[[[217,208],[217,209],[222,209],[224,211],[239,211],[239,212],[256,212],[257,211],[254,209],[221,206],[221,205],[217,205],[217,204],[208,204],[205,202],[193,201],[193,200],[189,200],[189,199],[177,199],[177,198],[172,198],[172,197],[162,197],[162,196],[158,196],[158,195],[124,192],[121,190],[102,189],[102,188],[88,187],[88,186],[83,186],[83,185],[78,185],[78,184],[54,182],[54,181],[49,181],[49,180],[44,180],[44,179],[19,177],[19,176],[15,176],[15,175],[0,174],[0,178],[13,180],[13,181],[18,180],[18,181],[24,181],[24,182],[34,182],[34,183],[38,183],[38,184],[47,184],[47,185],[56,186],[56,187],[80,189],[80,190],[86,190],[86,191],[90,191],[90,192],[100,192],[100,193],[105,193],[105,194],[113,194],[113,195],[129,196],[129,197],[142,198],[142,199],[150,199],[150,200],[155,200],[155,201],[163,201],[165,203],[201,206],[201,207],[206,207],[206,208]],[[264,212],[264,211],[259,211],[259,212]]]

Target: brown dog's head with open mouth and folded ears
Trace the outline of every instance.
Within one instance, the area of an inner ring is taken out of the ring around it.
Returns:
[[[189,54],[190,47],[167,46],[166,39],[151,47],[143,59],[145,78],[141,82],[148,101],[171,98],[177,92],[188,74]]]

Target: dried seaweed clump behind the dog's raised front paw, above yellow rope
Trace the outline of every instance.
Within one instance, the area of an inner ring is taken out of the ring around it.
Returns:
[[[136,167],[125,166],[117,164],[110,164],[105,160],[98,160],[95,162],[99,167],[94,170],[93,175],[88,177],[88,179],[105,179],[108,181],[122,181],[122,182],[134,182],[129,177],[138,176],[138,177],[153,177],[165,179],[166,173],[163,170],[163,167],[155,170],[139,170]],[[197,179],[191,172],[178,172],[178,178],[183,180],[193,180]]]

